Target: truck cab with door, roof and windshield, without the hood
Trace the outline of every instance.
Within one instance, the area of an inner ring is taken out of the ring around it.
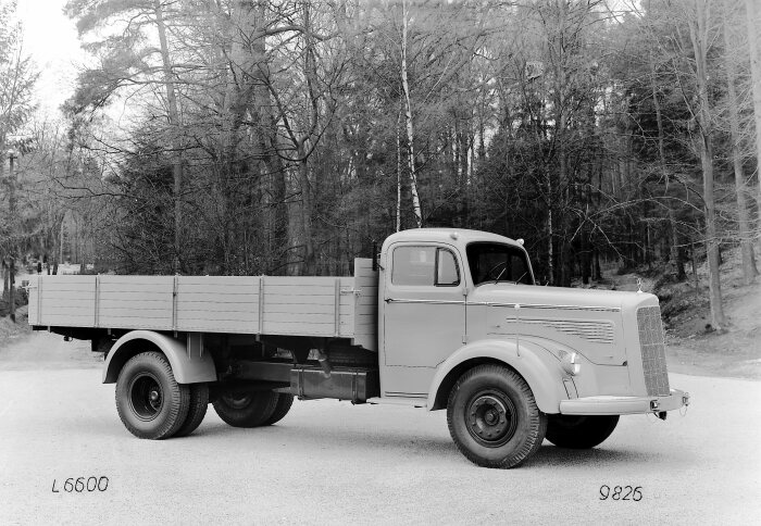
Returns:
[[[427,399],[436,368],[466,343],[486,338],[483,313],[473,303],[481,285],[534,285],[519,242],[473,230],[395,234],[383,246],[379,268],[386,397]]]

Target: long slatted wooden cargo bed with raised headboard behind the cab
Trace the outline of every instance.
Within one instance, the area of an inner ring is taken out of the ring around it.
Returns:
[[[353,277],[33,276],[29,324],[349,338],[377,350],[377,271]]]

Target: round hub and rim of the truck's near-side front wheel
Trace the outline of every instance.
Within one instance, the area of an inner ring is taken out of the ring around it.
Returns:
[[[467,431],[483,446],[498,448],[515,435],[515,405],[501,391],[477,392],[471,397],[466,411]]]

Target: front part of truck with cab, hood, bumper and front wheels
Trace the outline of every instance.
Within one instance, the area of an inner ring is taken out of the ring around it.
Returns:
[[[463,229],[392,235],[379,268],[383,397],[447,409],[454,441],[478,464],[516,461],[495,451],[515,447],[521,418],[510,415],[524,411],[541,414],[522,421],[538,429],[533,440],[589,448],[620,415],[665,418],[689,403],[669,386],[653,295],[536,286],[521,241]]]

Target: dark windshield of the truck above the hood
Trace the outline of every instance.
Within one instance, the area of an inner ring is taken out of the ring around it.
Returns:
[[[509,281],[534,285],[526,252],[510,245],[477,242],[466,249],[474,285]]]

